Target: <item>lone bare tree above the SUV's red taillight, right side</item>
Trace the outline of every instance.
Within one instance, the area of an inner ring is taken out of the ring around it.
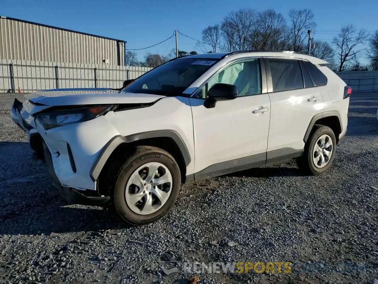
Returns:
[[[339,72],[349,67],[350,61],[356,61],[361,50],[356,50],[356,46],[366,41],[369,34],[365,30],[356,31],[353,25],[341,28],[338,36],[333,38],[333,44],[338,47]]]

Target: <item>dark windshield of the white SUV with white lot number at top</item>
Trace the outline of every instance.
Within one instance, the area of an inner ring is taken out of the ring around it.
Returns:
[[[219,59],[181,58],[164,63],[122,89],[123,92],[177,96]]]

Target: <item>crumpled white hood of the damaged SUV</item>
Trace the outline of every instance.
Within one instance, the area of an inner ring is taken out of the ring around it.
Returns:
[[[72,105],[101,105],[124,103],[152,103],[162,95],[133,94],[109,89],[60,89],[38,91],[25,95],[37,105],[72,106]]]

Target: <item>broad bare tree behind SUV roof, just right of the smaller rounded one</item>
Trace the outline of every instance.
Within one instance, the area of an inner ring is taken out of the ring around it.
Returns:
[[[239,9],[230,12],[222,21],[220,30],[223,36],[223,50],[246,50],[249,35],[253,31],[256,12],[251,9]]]

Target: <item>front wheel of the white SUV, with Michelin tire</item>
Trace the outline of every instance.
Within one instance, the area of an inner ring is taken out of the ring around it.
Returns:
[[[136,147],[118,173],[114,209],[130,225],[155,222],[173,207],[180,185],[180,169],[169,153],[156,147]]]

